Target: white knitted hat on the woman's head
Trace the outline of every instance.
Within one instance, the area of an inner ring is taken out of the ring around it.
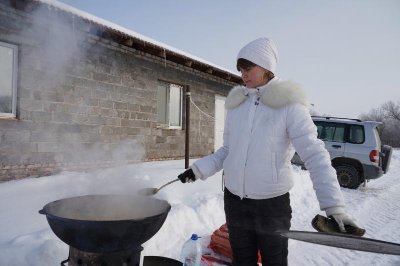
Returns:
[[[241,48],[237,54],[237,59],[239,58],[246,59],[275,73],[278,51],[271,39],[263,37],[253,40]]]

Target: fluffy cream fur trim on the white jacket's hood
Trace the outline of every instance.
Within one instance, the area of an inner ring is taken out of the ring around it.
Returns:
[[[245,86],[233,87],[225,101],[226,109],[233,109],[240,105],[248,96],[244,95]],[[290,80],[276,81],[265,88],[261,95],[263,104],[278,109],[289,104],[300,103],[305,107],[310,107],[310,102],[305,96],[300,85]]]

